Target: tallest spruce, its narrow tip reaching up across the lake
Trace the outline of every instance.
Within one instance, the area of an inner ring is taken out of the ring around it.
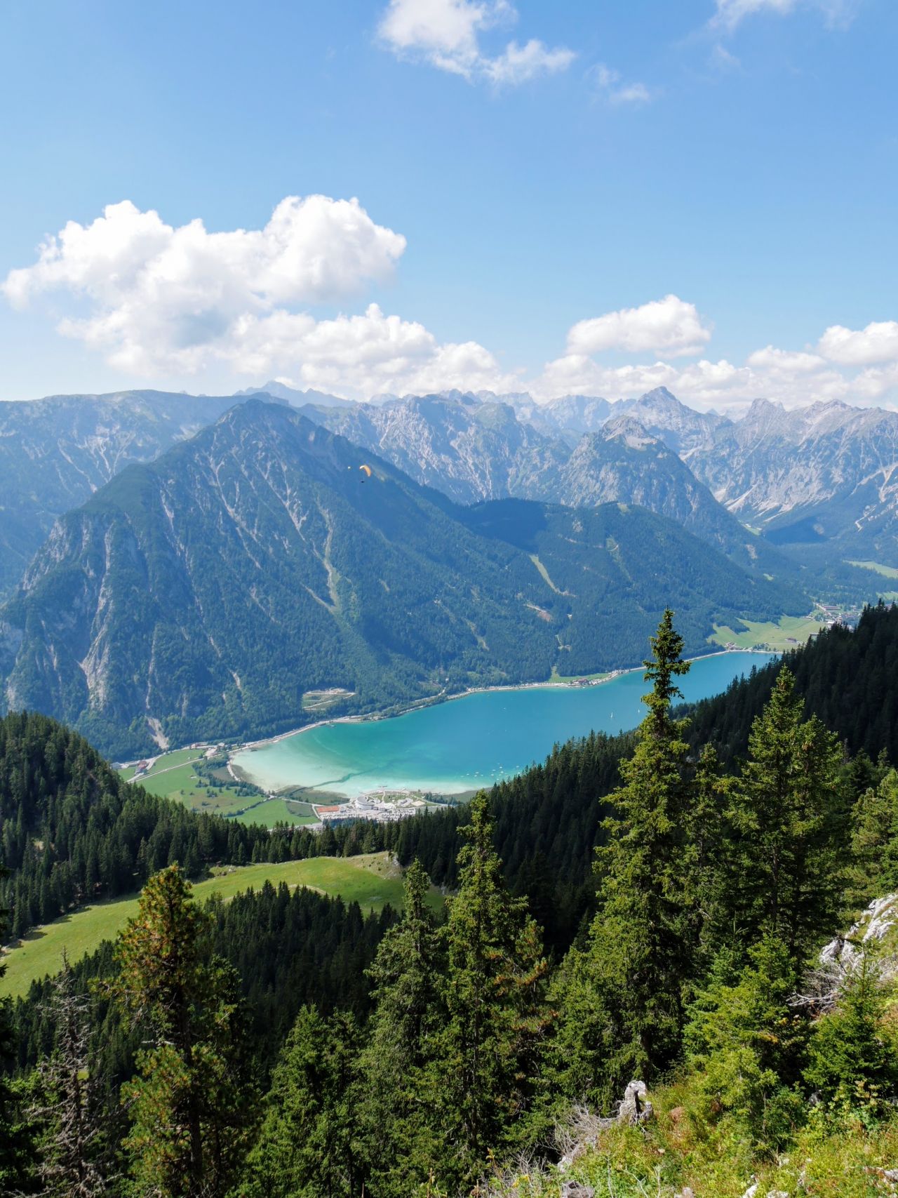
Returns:
[[[620,764],[624,785],[606,800],[613,813],[596,858],[599,910],[557,986],[556,1081],[605,1107],[630,1078],[657,1076],[679,1052],[696,936],[685,877],[692,770],[685,722],[671,713],[680,695],[674,679],[688,662],[669,610],[651,649],[649,710],[633,756]]]

